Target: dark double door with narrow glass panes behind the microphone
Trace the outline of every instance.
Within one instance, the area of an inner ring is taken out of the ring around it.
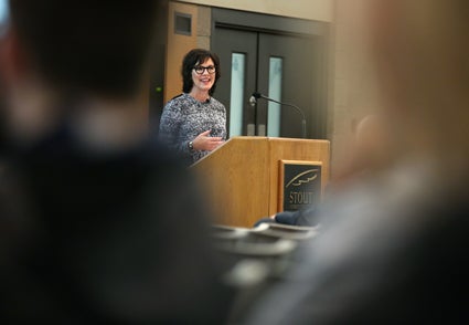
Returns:
[[[320,38],[215,25],[212,50],[221,59],[222,78],[215,97],[227,108],[230,136],[301,137],[301,115],[265,99],[252,106],[249,97],[258,92],[300,107],[308,138],[326,137],[326,66]]]

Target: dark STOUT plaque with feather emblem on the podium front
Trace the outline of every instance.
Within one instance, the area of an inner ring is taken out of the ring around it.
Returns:
[[[320,161],[280,160],[279,211],[295,211],[321,200]]]

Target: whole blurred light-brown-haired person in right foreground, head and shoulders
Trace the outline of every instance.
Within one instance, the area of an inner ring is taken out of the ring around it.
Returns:
[[[329,197],[246,324],[469,321],[469,3],[363,3],[394,159]]]

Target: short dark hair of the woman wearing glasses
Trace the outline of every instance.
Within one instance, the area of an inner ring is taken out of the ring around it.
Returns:
[[[222,76],[220,71],[220,59],[215,53],[203,49],[191,50],[182,60],[182,92],[190,93],[192,91],[192,87],[194,86],[192,70],[196,64],[202,64],[209,59],[212,59],[213,64],[215,65],[215,82],[213,83],[212,88],[210,88],[209,95],[212,96],[215,93],[216,82]]]

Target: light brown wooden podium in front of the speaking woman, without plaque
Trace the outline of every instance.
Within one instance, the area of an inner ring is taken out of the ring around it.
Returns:
[[[203,181],[213,223],[253,227],[283,210],[281,164],[319,164],[321,192],[329,180],[328,140],[234,137],[192,165]]]

